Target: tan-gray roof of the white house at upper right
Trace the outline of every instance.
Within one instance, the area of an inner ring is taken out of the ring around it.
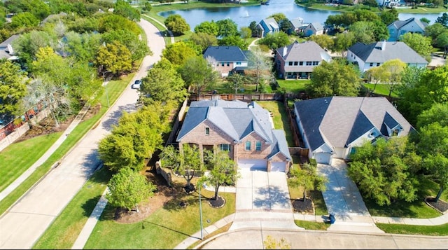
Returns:
[[[384,50],[381,45],[386,43]],[[364,62],[386,62],[388,60],[400,59],[409,63],[428,63],[419,53],[412,50],[406,43],[401,41],[380,41],[370,44],[355,43],[349,50]]]

